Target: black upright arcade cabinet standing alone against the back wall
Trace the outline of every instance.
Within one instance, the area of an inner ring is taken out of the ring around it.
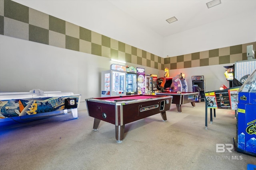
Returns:
[[[192,92],[198,92],[198,98],[196,98],[195,102],[204,102],[204,87],[205,81],[204,76],[192,76]]]

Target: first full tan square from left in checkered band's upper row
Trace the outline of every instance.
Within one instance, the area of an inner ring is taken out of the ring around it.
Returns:
[[[29,16],[28,22],[31,25],[35,25],[37,27],[41,27],[44,29],[49,29],[49,15],[43,12],[34,10],[32,8],[28,8]]]

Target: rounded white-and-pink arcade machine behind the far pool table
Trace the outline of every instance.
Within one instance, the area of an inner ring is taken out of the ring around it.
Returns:
[[[172,78],[171,91],[173,92],[188,92],[185,74],[180,73]]]

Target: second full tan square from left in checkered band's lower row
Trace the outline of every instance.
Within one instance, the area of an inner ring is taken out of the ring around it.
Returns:
[[[49,30],[49,45],[66,48],[66,35]]]

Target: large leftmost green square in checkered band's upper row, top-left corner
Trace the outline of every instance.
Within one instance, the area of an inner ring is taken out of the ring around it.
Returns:
[[[11,0],[4,0],[4,16],[28,23],[28,7]]]

